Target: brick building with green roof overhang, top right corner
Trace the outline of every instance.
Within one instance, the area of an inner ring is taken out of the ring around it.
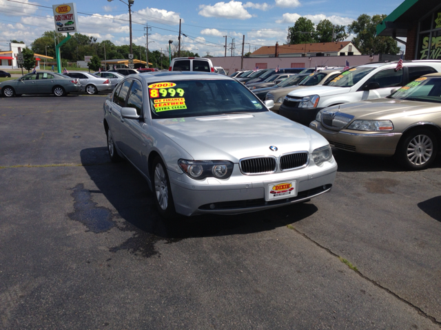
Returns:
[[[441,60],[440,0],[405,0],[377,25],[377,35],[404,43],[405,60]]]

